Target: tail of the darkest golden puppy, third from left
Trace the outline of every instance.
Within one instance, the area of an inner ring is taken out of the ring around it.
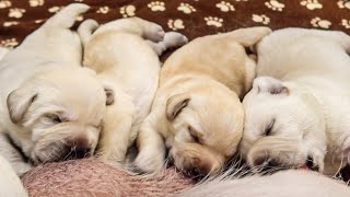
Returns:
[[[272,31],[266,26],[255,26],[248,28],[238,28],[228,33],[230,39],[234,39],[244,47],[250,47],[257,44],[262,37],[270,34]]]

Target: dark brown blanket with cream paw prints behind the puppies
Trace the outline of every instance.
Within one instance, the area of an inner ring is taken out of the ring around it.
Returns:
[[[105,23],[139,16],[189,38],[257,25],[350,34],[350,0],[0,0],[0,45],[18,46],[50,15],[72,2],[91,5],[77,21],[91,18]]]

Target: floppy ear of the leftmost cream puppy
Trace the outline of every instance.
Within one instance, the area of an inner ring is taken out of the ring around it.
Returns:
[[[37,95],[37,91],[30,89],[27,85],[21,86],[9,94],[7,105],[13,124],[19,124],[23,119]]]

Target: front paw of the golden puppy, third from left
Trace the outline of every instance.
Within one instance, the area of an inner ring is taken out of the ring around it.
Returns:
[[[164,165],[164,157],[160,154],[143,154],[140,152],[133,161],[136,172],[153,173],[161,170]]]

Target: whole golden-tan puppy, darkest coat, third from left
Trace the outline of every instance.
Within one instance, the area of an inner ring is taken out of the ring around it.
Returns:
[[[240,99],[255,78],[255,61],[244,47],[269,33],[267,27],[253,27],[200,37],[165,61],[137,140],[139,170],[161,169],[167,148],[176,167],[187,175],[220,171],[241,140]]]

